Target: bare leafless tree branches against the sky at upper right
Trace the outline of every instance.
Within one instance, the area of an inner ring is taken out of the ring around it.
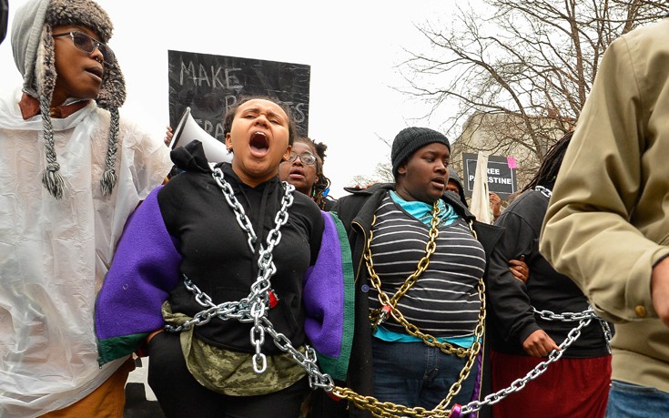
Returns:
[[[484,2],[482,13],[459,7],[451,27],[417,25],[431,48],[406,51],[406,86],[397,89],[430,104],[426,117],[457,104],[441,128],[451,138],[464,131],[487,140],[457,144],[456,154],[519,156],[519,178],[573,129],[605,48],[666,8],[655,0]]]

